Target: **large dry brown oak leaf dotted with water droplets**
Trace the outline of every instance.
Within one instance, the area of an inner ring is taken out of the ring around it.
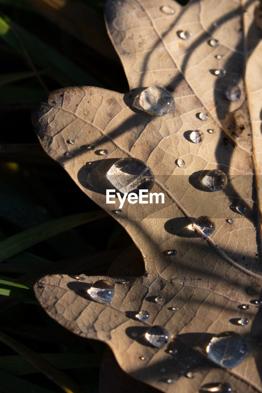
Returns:
[[[243,3],[108,1],[107,28],[131,91],[63,88],[33,110],[44,150],[120,222],[146,269],[143,276],[121,279],[49,275],[35,285],[36,296],[52,318],[82,337],[106,342],[126,373],[164,392],[225,392],[230,386],[262,391],[262,48],[253,18],[257,2]],[[166,89],[175,111],[152,116],[133,107],[149,86]],[[239,88],[236,101],[227,97],[230,86]],[[200,143],[189,138],[196,129],[204,136]],[[164,193],[164,204],[125,202],[120,215],[117,203],[106,204],[106,190],[113,188],[106,173],[123,157],[149,165],[155,175],[151,192]],[[177,165],[179,158],[185,165]],[[211,169],[227,174],[222,191],[199,181]],[[245,214],[238,204],[245,205]],[[188,229],[206,215],[216,225],[208,238]],[[97,280],[115,285],[110,303],[90,298],[87,291]],[[150,314],[147,321],[135,317],[140,310]],[[240,325],[241,318],[249,323]],[[166,327],[168,345],[157,348],[146,340],[152,325]],[[229,337],[240,349],[232,342],[222,349],[218,341],[220,367],[205,348],[227,331],[239,334]],[[229,369],[232,358],[238,365]]]

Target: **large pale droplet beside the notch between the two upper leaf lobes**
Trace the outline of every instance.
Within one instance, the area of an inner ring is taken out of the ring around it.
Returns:
[[[175,101],[166,89],[150,86],[137,95],[133,107],[154,116],[164,116],[175,111]]]

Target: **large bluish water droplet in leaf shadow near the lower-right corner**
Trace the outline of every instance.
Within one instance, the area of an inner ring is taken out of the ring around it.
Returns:
[[[239,334],[225,332],[213,337],[207,346],[207,356],[216,364],[232,369],[247,356],[247,341]]]

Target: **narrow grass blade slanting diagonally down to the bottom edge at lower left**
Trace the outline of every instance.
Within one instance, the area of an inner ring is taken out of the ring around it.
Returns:
[[[66,393],[84,393],[84,390],[77,385],[76,382],[30,348],[7,336],[7,334],[3,332],[0,332],[0,341],[23,356],[24,359],[28,360],[28,362],[33,364],[39,371],[48,376],[48,378],[60,386]]]

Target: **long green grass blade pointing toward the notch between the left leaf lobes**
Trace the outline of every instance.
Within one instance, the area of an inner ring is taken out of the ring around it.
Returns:
[[[105,217],[108,217],[108,215],[104,211],[80,213],[48,221],[26,231],[17,233],[16,235],[0,242],[0,262],[20,251],[26,250],[26,248],[33,246],[34,244],[57,235],[57,233],[61,233],[68,229],[75,228],[76,226]]]

